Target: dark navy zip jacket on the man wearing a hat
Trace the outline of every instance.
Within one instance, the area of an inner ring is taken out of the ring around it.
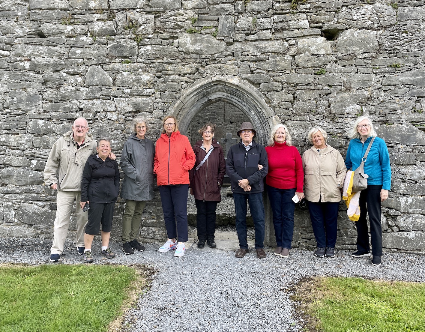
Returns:
[[[258,164],[263,165],[258,170]],[[262,193],[264,191],[263,179],[269,170],[266,149],[252,140],[248,152],[242,143],[232,145],[227,153],[226,173],[232,184],[232,192],[241,194]],[[239,187],[239,181],[248,179],[251,191],[244,191]]]

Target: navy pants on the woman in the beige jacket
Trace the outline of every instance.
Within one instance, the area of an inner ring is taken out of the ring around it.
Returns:
[[[334,248],[337,242],[337,221],[340,202],[307,201],[318,248]]]

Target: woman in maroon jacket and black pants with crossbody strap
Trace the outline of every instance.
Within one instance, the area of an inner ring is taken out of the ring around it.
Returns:
[[[196,162],[189,171],[190,193],[195,197],[198,248],[215,248],[215,210],[221,202],[220,188],[223,184],[226,165],[223,148],[214,140],[215,125],[208,122],[198,133],[202,139],[193,145]]]

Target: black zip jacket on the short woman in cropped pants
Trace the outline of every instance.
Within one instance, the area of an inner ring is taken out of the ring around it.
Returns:
[[[112,203],[118,199],[119,170],[116,160],[88,157],[82,173],[81,201]]]

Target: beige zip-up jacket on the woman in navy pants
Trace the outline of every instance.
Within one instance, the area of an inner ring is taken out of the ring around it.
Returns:
[[[347,173],[341,153],[330,145],[320,153],[312,146],[304,152],[302,159],[306,199],[312,202],[339,202],[340,188]]]

